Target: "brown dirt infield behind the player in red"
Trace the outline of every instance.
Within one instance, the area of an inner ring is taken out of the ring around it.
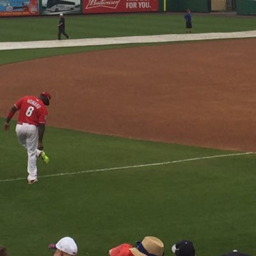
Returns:
[[[49,91],[54,127],[255,151],[255,45],[194,42],[3,65],[0,115],[23,95]]]

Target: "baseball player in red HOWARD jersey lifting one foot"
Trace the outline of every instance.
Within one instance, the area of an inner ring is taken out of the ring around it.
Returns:
[[[16,134],[19,143],[28,151],[28,184],[38,181],[36,157],[40,157],[45,163],[49,163],[49,157],[43,151],[43,137],[46,124],[47,108],[51,100],[51,94],[43,92],[40,97],[25,96],[19,99],[4,122],[4,130],[10,128],[10,120],[16,111],[19,110]]]

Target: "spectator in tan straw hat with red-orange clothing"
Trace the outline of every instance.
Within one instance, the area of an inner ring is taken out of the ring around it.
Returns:
[[[144,237],[135,247],[131,244],[120,244],[109,250],[110,256],[163,256],[163,253],[163,242],[154,236]]]

